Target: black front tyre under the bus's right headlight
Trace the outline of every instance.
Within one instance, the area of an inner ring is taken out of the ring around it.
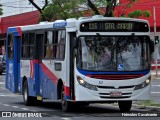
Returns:
[[[121,112],[129,112],[132,107],[132,101],[118,101],[118,105]]]

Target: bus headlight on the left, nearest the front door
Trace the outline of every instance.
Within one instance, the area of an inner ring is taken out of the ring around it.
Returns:
[[[95,91],[98,91],[97,87],[95,85],[91,85],[89,83],[87,83],[86,81],[84,81],[81,77],[77,76],[77,81],[78,83],[85,87],[85,88],[88,88],[90,90],[95,90]]]

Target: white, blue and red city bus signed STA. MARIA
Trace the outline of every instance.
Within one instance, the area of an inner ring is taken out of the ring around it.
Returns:
[[[150,100],[148,21],[92,16],[8,28],[6,88],[25,105],[45,99],[62,110],[91,103]]]

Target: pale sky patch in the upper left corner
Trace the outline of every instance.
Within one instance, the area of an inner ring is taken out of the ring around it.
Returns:
[[[39,7],[43,7],[44,0],[34,0]],[[15,14],[21,14],[25,12],[37,10],[28,0],[0,0],[0,4],[3,5],[3,15],[0,17],[12,16]]]

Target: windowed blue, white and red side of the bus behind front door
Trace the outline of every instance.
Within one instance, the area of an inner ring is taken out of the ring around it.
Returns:
[[[66,22],[60,24],[8,29],[6,88],[22,94],[25,105],[41,103],[43,99],[70,99]]]

